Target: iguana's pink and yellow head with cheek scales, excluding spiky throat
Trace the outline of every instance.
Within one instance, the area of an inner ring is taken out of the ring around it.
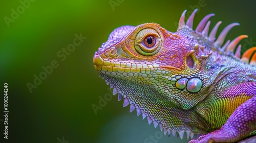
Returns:
[[[193,38],[168,32],[155,23],[145,23],[114,30],[95,53],[94,64],[103,75],[152,85],[163,97],[187,109],[196,101],[183,98],[189,92],[198,92],[204,80],[198,76],[200,56],[199,45]],[[191,105],[185,106],[188,102]]]

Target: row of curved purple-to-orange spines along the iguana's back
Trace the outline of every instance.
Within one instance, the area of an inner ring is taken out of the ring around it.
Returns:
[[[227,33],[234,27],[239,26],[239,23],[234,22],[228,25],[226,28],[223,29],[223,31],[220,33],[218,37],[216,37],[216,33],[218,31],[218,28],[221,24],[221,21],[217,22],[215,27],[211,30],[210,34],[209,32],[209,26],[210,21],[208,19],[211,16],[214,16],[215,14],[208,14],[206,15],[198,24],[196,30],[193,30],[193,20],[195,17],[195,14],[197,12],[197,9],[194,10],[194,12],[189,16],[185,23],[185,14],[186,10],[182,13],[180,20],[179,20],[179,27],[177,31],[181,31],[183,29],[190,29],[193,32],[195,32],[197,35],[191,35],[195,36],[196,38],[206,37],[214,46],[209,46],[211,48],[214,48],[216,50],[219,50],[222,54],[229,54],[232,53],[232,56],[238,60],[242,60],[247,64],[256,65],[256,47],[251,47],[248,49],[243,55],[242,58],[240,58],[241,53],[241,45],[238,45],[238,43],[244,39],[247,38],[247,35],[240,35],[237,38],[233,39],[231,42],[230,40],[227,40],[227,42],[223,45],[224,40],[226,38]],[[216,40],[217,39],[217,40]],[[223,46],[222,46],[223,45]],[[238,46],[237,46],[238,45]],[[204,47],[198,43],[195,45],[195,50],[198,49],[198,46],[201,47],[201,50],[203,51]],[[237,47],[237,50],[234,51]],[[201,55],[202,58],[207,58],[207,54]]]

